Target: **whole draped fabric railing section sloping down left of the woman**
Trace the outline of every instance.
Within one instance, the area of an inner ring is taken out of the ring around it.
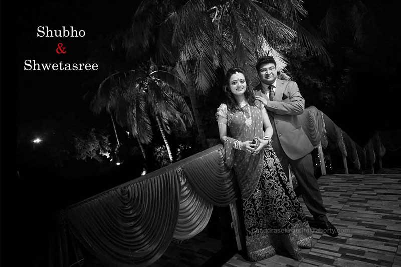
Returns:
[[[74,239],[109,266],[152,264],[173,238],[202,231],[213,205],[235,200],[231,178],[217,145],[72,205],[59,213],[60,249],[51,262],[69,266]]]

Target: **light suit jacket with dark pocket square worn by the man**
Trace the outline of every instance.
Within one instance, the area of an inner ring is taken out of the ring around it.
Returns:
[[[313,145],[298,118],[304,111],[305,100],[299,92],[297,83],[277,79],[274,101],[269,100],[269,92],[266,92],[267,95],[262,92],[260,84],[254,88],[254,92],[268,100],[265,108],[273,126],[272,146],[276,153],[281,151],[278,148],[280,144],[284,153],[292,160],[310,153]]]

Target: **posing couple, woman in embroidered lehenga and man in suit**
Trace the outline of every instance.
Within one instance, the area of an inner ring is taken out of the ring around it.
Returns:
[[[338,233],[327,220],[313,175],[313,146],[297,118],[304,110],[297,84],[277,79],[276,62],[270,56],[259,58],[256,70],[260,84],[254,90],[247,87],[241,68],[227,71],[227,100],[216,114],[225,162],[233,168],[241,191],[248,259],[258,261],[287,251],[299,260],[299,248],[311,247],[312,232],[287,182],[289,165],[315,227],[331,236]]]

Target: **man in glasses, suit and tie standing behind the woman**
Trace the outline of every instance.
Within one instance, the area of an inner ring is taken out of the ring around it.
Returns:
[[[319,185],[314,177],[311,151],[313,146],[302,129],[297,115],[302,114],[305,100],[293,81],[277,79],[277,65],[273,57],[258,59],[256,70],[260,79],[254,88],[256,100],[261,101],[273,126],[272,146],[288,177],[288,165],[298,180],[298,187],[306,207],[313,215],[312,227],[320,228],[330,236],[337,229],[326,217]]]

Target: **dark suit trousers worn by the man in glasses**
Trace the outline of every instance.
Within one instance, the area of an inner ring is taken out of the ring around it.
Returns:
[[[274,151],[283,166],[285,174],[288,177],[288,165],[291,165],[291,169],[298,181],[297,190],[300,190],[309,212],[315,220],[327,221],[327,210],[323,206],[319,184],[314,175],[312,155],[308,153],[302,158],[296,160],[290,159],[281,148],[280,141],[278,141],[278,143],[278,145],[274,146]]]

